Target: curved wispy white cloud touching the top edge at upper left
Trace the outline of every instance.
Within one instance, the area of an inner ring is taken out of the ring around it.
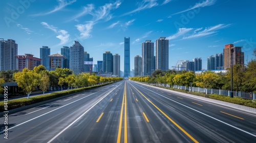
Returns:
[[[76,0],[57,0],[58,2],[58,6],[55,6],[53,10],[49,11],[49,12],[45,12],[45,13],[38,13],[38,14],[33,14],[31,16],[42,16],[42,15],[48,15],[48,14],[51,14],[51,13],[54,13],[54,12],[57,12],[63,8],[65,8],[66,6],[68,5],[71,5],[73,3],[76,2]]]

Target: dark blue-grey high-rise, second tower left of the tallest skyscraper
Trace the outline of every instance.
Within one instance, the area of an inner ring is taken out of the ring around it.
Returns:
[[[110,52],[103,53],[103,73],[113,74],[113,55]]]

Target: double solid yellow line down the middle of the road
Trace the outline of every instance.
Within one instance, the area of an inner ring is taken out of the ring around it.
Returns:
[[[124,106],[124,142],[127,142],[127,101],[126,101],[126,81],[124,83],[124,90],[123,90],[123,100],[122,100],[122,107],[120,113],[120,121],[119,121],[119,129],[117,135],[117,142],[121,142],[121,132],[122,132],[122,117],[123,117],[123,106]]]

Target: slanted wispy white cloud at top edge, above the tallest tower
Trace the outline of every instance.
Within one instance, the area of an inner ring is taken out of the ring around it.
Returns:
[[[130,11],[130,12],[127,12],[127,13],[124,13],[121,16],[129,15],[129,14],[132,14],[132,13],[144,10],[144,9],[150,9],[150,8],[153,8],[157,5],[158,5],[157,0],[143,0],[141,3],[138,3],[138,8],[137,9],[135,9],[133,11]]]

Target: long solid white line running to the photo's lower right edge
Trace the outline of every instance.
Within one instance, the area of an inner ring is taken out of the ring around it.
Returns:
[[[131,84],[131,83],[130,83],[130,84]],[[140,86],[140,87],[142,87],[142,86]],[[142,87],[142,88],[145,88],[145,87]],[[145,88],[145,89],[147,89],[147,88]],[[147,90],[150,90],[150,89],[147,89]],[[150,90],[150,91],[152,91],[152,90]],[[152,91],[152,92],[154,92],[154,91]],[[157,92],[154,92],[154,93],[158,94]],[[162,96],[161,94],[158,94],[158,95],[161,96],[161,97],[163,97],[163,98],[166,98],[166,97]],[[172,100],[172,99],[169,99],[169,98],[166,98],[166,99],[168,99],[168,100],[170,100],[170,101],[173,101],[173,102],[175,102],[175,103],[177,103],[177,104],[180,104],[180,105],[182,105],[182,106],[184,106],[184,107],[187,107],[187,108],[189,108],[189,109],[191,109],[191,110],[194,110],[194,111],[196,111],[196,112],[198,112],[198,113],[201,113],[201,114],[203,114],[203,115],[206,115],[206,116],[208,116],[208,117],[210,117],[210,118],[212,118],[212,119],[214,119],[214,120],[216,120],[216,121],[219,121],[219,122],[221,122],[221,123],[223,123],[223,124],[226,124],[226,125],[228,125],[228,126],[230,126],[230,127],[232,127],[232,128],[238,129],[238,130],[240,130],[240,131],[242,131],[242,132],[245,132],[245,133],[247,133],[247,134],[249,134],[249,135],[252,135],[252,136],[256,137],[255,134],[252,134],[252,133],[249,133],[249,132],[247,132],[247,131],[245,131],[245,130],[239,129],[238,127],[234,127],[234,126],[232,126],[232,125],[230,125],[230,124],[228,124],[228,123],[225,123],[225,122],[223,122],[223,121],[221,121],[221,120],[219,120],[219,119],[217,119],[217,118],[215,118],[215,117],[212,117],[212,116],[210,116],[210,115],[207,115],[207,114],[205,114],[205,113],[203,113],[203,112],[200,112],[200,111],[198,111],[198,110],[196,110],[196,109],[193,109],[193,108],[191,108],[191,107],[188,107],[188,106],[186,106],[186,105],[184,105],[184,104],[181,104],[181,103],[179,103],[179,102],[177,102],[177,101],[174,101],[174,100]]]

